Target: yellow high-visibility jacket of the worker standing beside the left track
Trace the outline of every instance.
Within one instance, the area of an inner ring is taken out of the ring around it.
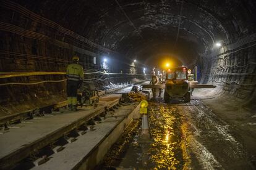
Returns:
[[[72,63],[67,66],[67,79],[79,81],[83,79],[83,67],[77,63]]]

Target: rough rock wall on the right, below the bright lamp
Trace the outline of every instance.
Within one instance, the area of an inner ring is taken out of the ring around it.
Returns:
[[[255,110],[256,34],[239,40],[236,47],[224,46],[203,60],[201,83],[216,84],[216,95],[239,99],[244,108]],[[218,55],[217,55],[218,54]]]

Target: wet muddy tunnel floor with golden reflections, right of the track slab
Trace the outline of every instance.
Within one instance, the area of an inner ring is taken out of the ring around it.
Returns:
[[[132,124],[101,168],[255,169],[254,155],[238,142],[230,125],[200,100],[150,102],[148,121],[151,139],[141,142],[141,121]]]

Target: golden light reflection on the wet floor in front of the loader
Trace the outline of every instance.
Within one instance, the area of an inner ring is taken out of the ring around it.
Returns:
[[[176,108],[170,105],[151,105],[150,131],[155,143],[149,153],[156,168],[182,169],[181,120]]]

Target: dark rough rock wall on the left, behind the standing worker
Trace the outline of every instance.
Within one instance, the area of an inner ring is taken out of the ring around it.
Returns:
[[[12,1],[0,2],[0,71],[66,71],[72,55],[80,57],[85,70],[130,72],[130,66],[117,60],[117,54],[96,44],[56,22],[41,17]],[[108,68],[103,68],[102,59],[111,55]],[[112,65],[117,65],[116,69]],[[119,75],[120,76],[120,75]],[[121,75],[122,76],[122,75]],[[93,76],[91,76],[93,78]],[[0,83],[36,83],[40,81],[61,81],[30,85],[0,86],[0,116],[44,107],[66,100],[65,75],[25,76],[0,79]],[[144,76],[129,75],[93,81],[95,86],[110,83],[134,83]]]

